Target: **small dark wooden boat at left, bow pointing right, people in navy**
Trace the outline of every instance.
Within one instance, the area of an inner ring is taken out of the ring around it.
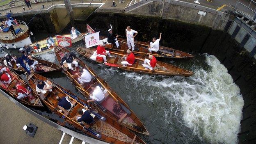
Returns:
[[[61,71],[62,69],[59,65],[54,64],[53,62],[48,62],[43,59],[37,59],[37,58],[34,58],[34,59],[39,62],[37,64],[36,69],[34,70],[35,73],[48,73],[48,72],[54,72],[54,71]],[[4,57],[0,58],[0,63],[2,65],[5,65],[4,60],[5,60]],[[12,62],[12,65],[13,67],[9,66],[9,69],[13,69],[14,71],[18,71],[18,72],[25,72],[23,68],[18,68],[15,62]]]

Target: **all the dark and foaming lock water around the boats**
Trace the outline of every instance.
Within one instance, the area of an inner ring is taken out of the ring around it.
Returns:
[[[82,45],[82,42],[76,43],[72,50]],[[2,50],[0,55],[5,53],[7,50]],[[151,136],[140,136],[148,144],[237,143],[244,105],[240,89],[215,56],[196,55],[191,60],[169,61],[194,71],[189,78],[128,73],[79,57],[105,79],[144,122]],[[54,54],[41,58],[56,62]],[[45,76],[81,96],[63,73]],[[55,114],[37,112],[56,119]]]

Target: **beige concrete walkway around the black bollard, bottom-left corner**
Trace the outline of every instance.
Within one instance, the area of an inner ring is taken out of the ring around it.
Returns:
[[[0,93],[0,144],[59,144],[63,132],[32,116]],[[23,130],[24,125],[38,126],[34,138]],[[61,144],[69,144],[71,136],[65,134]],[[82,144],[73,139],[72,144]]]

